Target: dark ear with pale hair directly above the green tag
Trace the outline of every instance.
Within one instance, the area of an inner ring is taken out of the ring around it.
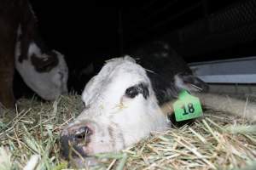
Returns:
[[[178,74],[174,77],[174,82],[177,88],[192,92],[207,92],[209,90],[207,83],[194,75]]]

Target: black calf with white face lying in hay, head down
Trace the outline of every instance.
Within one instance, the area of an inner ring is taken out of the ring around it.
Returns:
[[[122,150],[151,132],[165,131],[171,127],[172,108],[166,110],[161,105],[172,103],[181,89],[201,92],[203,104],[241,115],[241,101],[233,99],[232,104],[239,106],[230,109],[224,97],[204,94],[207,84],[193,76],[166,43],[154,42],[136,54],[141,58],[137,59],[140,65],[130,56],[110,59],[86,84],[84,111],[61,133],[61,150],[66,158],[73,156],[81,164],[80,156]],[[247,105],[247,109],[245,115],[255,121],[255,105]]]

